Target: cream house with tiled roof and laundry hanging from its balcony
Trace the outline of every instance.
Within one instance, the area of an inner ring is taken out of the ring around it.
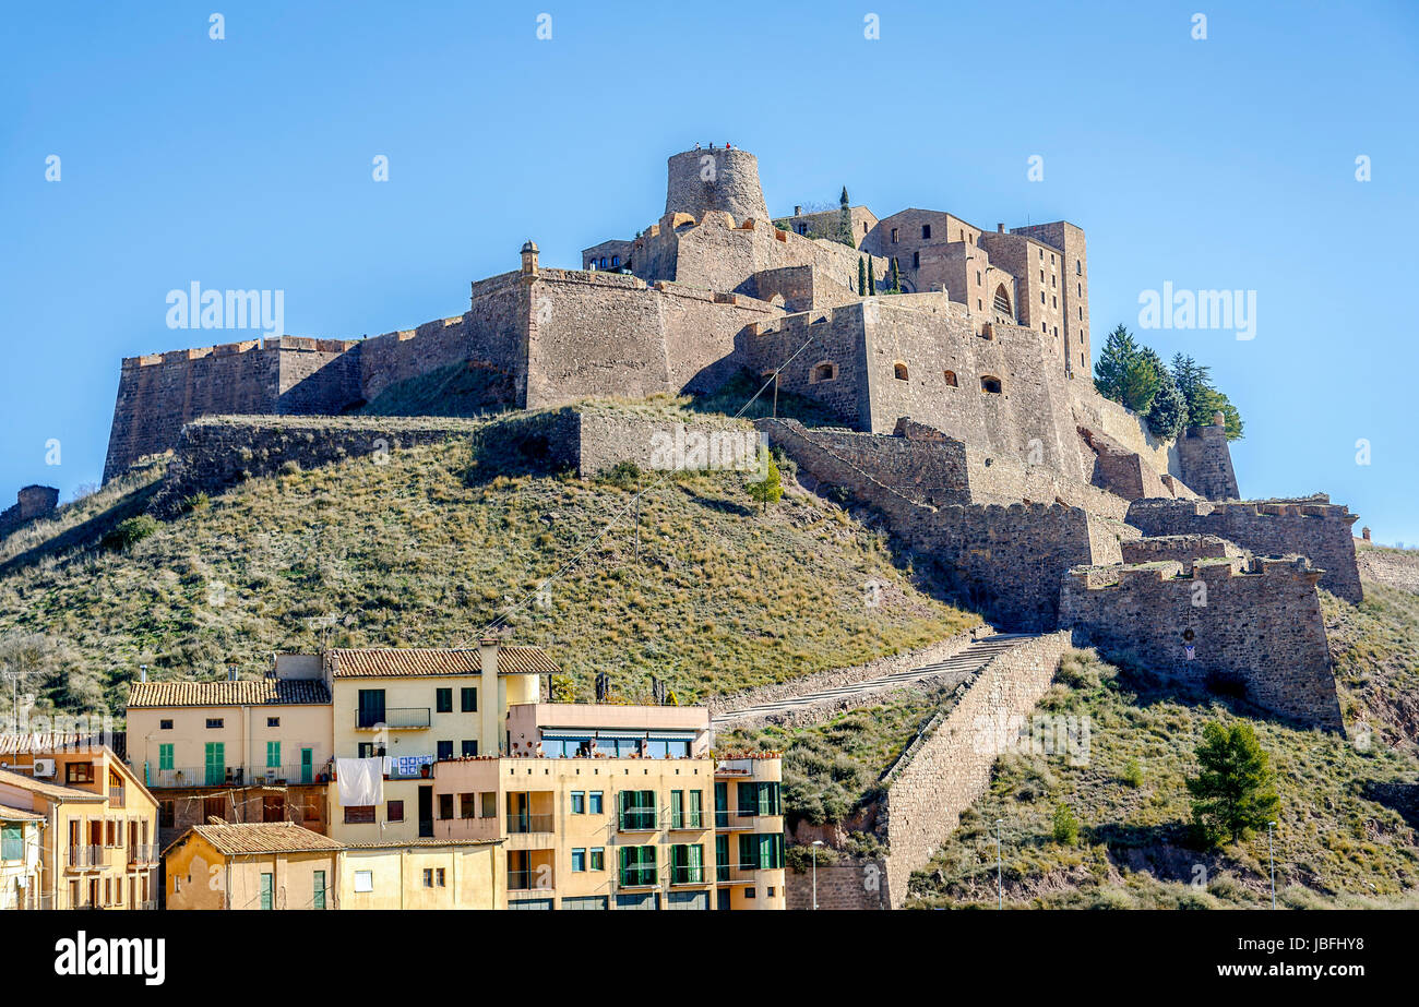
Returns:
[[[339,772],[329,834],[349,844],[434,838],[433,766],[497,755],[511,703],[535,703],[561,668],[538,647],[329,650],[336,759],[383,759],[377,803],[350,803]]]

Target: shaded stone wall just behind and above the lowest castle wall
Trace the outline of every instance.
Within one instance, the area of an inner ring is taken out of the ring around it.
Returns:
[[[1128,523],[1144,535],[1216,535],[1257,556],[1305,556],[1324,570],[1321,587],[1359,604],[1364,590],[1355,564],[1351,525],[1357,515],[1327,498],[1212,504],[1134,501]]]

